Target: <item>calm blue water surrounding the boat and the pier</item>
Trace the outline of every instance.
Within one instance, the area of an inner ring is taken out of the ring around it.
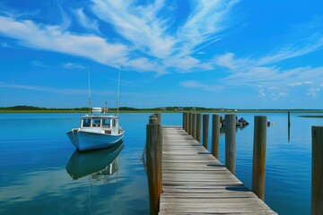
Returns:
[[[141,156],[149,115],[121,114],[123,145],[79,154],[65,133],[82,114],[1,114],[0,214],[148,214]],[[162,124],[180,125],[181,116],[163,114]],[[237,133],[236,171],[250,187],[254,115],[239,116],[250,125]],[[266,116],[275,126],[267,130],[265,201],[279,214],[310,214],[310,128],[323,118],[292,114],[288,141],[287,115]]]

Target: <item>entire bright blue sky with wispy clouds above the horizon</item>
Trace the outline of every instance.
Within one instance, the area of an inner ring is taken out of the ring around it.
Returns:
[[[2,0],[0,107],[323,108],[323,2]]]

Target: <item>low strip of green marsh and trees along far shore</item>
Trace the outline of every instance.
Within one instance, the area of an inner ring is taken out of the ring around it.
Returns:
[[[109,108],[109,112],[116,112],[116,108]],[[229,109],[206,107],[153,107],[135,108],[119,107],[120,113],[179,113],[182,111],[194,111],[200,113],[323,113],[323,109]],[[47,108],[33,106],[0,107],[0,113],[88,113],[89,107],[77,108]],[[321,117],[321,116],[319,116]]]

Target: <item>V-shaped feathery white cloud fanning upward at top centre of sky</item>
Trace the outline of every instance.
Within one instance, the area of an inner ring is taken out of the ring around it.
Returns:
[[[92,13],[113,26],[119,36],[142,54],[154,57],[162,67],[207,70],[210,66],[191,55],[205,43],[220,39],[219,33],[230,26],[229,13],[236,3],[195,1],[192,14],[177,30],[170,30],[173,12],[168,8],[172,7],[163,0],[144,5],[136,1],[95,0]]]

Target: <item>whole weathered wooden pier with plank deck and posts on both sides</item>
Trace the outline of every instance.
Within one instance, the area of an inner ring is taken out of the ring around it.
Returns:
[[[208,116],[183,112],[182,126],[149,117],[143,160],[150,214],[277,214],[265,202],[266,116],[255,116],[252,191],[235,174],[235,116],[225,115],[225,163],[218,159],[220,116],[212,117],[212,153],[205,142]],[[194,119],[194,120],[193,120]],[[197,130],[197,131],[196,131]],[[144,159],[145,158],[145,159]],[[312,126],[311,214],[323,214],[323,126]]]

